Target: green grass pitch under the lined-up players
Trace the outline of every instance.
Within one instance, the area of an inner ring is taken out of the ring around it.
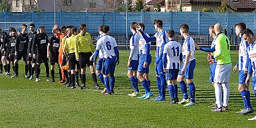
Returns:
[[[23,78],[24,64],[20,62],[19,78],[0,76],[0,127],[255,127],[255,121],[247,121],[254,115],[235,113],[243,108],[241,94],[237,91],[236,72],[231,73],[229,84],[229,111],[211,112],[208,105],[214,101],[214,90],[208,82],[209,64],[206,56],[205,52],[195,52],[197,104],[193,107],[129,97],[132,86],[126,76],[128,51],[120,51],[121,61],[116,66],[115,94],[112,96],[103,96],[94,90],[90,74],[86,75],[88,90],[67,90],[61,84],[45,82],[44,68],[41,82],[29,81]],[[234,66],[237,51],[232,51],[231,57]],[[150,65],[150,78],[156,96],[153,64]],[[142,86],[140,89],[143,91]],[[182,99],[180,89],[178,92],[179,99]],[[252,90],[251,97],[255,107]]]

